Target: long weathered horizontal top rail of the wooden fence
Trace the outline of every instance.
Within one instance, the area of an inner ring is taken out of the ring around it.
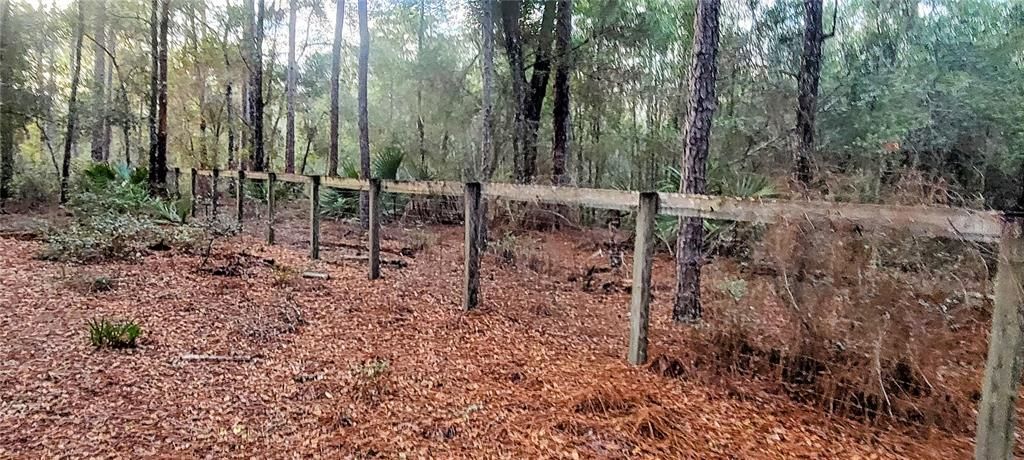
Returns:
[[[217,171],[220,177],[238,177],[238,171]],[[213,170],[196,170],[198,175],[212,176]],[[250,179],[266,179],[266,172],[245,172]],[[311,176],[275,174],[282,182],[308,182]],[[322,186],[369,191],[368,180],[323,177]],[[638,206],[638,192],[606,189],[583,189],[556,185],[527,185],[486,182],[482,194],[489,198],[586,206],[590,208],[628,211]],[[461,197],[464,184],[455,181],[382,180],[387,193]],[[672,216],[702,217],[757,223],[785,221],[846,221],[862,228],[896,228],[915,236],[955,238],[975,242],[994,242],[1002,228],[1002,214],[966,208],[934,206],[886,206],[824,201],[764,200],[734,197],[713,197],[675,193],[659,193],[657,213]]]

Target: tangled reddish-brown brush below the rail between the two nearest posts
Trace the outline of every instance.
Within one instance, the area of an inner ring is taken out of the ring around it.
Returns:
[[[990,249],[773,225],[750,264],[719,264],[728,279],[709,292],[709,325],[697,333],[707,352],[693,365],[757,376],[869,422],[971,432]]]

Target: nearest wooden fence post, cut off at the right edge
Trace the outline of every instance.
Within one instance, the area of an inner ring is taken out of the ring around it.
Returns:
[[[1017,392],[1024,351],[1024,217],[1007,217],[999,239],[995,305],[978,409],[977,459],[1014,458]]]

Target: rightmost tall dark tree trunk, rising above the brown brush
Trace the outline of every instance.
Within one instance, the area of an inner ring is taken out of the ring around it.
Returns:
[[[804,0],[804,52],[798,76],[797,164],[794,171],[797,183],[805,190],[811,184],[811,158],[814,156],[814,119],[818,111],[818,82],[821,79],[821,44],[825,40],[821,30],[822,0]]]

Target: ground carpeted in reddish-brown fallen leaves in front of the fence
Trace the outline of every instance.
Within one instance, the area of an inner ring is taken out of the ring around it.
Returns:
[[[301,214],[283,218],[278,245],[261,229],[216,241],[208,260],[163,251],[92,265],[0,238],[0,457],[971,455],[968,436],[868,426],[741,378],[630,366],[629,293],[573,277],[606,258],[596,233],[530,234],[535,262],[488,253],[482,306],[464,312],[461,227],[387,225],[383,257],[407,265],[385,263],[373,282],[340,257],[364,244],[348,223],[324,222],[321,261],[307,258]],[[671,259],[655,274],[654,358],[688,333],[669,319]],[[91,289],[96,277],[113,289]],[[141,345],[94,349],[97,317],[138,321]]]

